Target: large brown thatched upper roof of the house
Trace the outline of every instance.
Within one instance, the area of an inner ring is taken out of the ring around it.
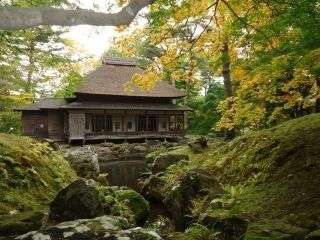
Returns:
[[[142,74],[143,70],[137,67],[133,61],[105,59],[98,69],[85,77],[85,82],[78,86],[76,93],[164,98],[185,96],[184,92],[163,81],[157,82],[149,91],[143,91],[138,86],[133,86],[133,91],[126,92],[125,87],[135,73]]]

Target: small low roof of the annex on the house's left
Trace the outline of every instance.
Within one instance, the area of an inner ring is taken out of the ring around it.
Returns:
[[[43,98],[36,99],[33,103],[16,108],[16,111],[39,111],[41,109],[59,109],[68,104],[67,99]]]

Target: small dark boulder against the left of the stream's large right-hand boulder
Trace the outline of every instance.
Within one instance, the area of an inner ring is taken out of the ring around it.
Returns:
[[[147,178],[142,186],[141,194],[151,201],[162,203],[165,193],[162,191],[165,181],[158,175],[151,175]]]

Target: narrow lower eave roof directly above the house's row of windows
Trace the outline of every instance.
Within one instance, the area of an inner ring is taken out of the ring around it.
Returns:
[[[192,111],[191,108],[175,104],[163,103],[106,103],[106,102],[72,102],[63,109],[108,109],[108,110],[172,110],[172,111]]]

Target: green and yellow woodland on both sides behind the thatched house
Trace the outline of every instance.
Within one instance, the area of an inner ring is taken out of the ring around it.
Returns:
[[[119,1],[119,5],[127,1]],[[76,8],[67,0],[0,1],[0,6]],[[111,7],[117,7],[111,6]],[[105,53],[135,57],[133,82],[183,89],[190,133],[232,138],[320,111],[318,0],[158,0]],[[0,31],[0,131],[19,132],[12,109],[36,97],[70,97],[96,62],[67,28]]]

